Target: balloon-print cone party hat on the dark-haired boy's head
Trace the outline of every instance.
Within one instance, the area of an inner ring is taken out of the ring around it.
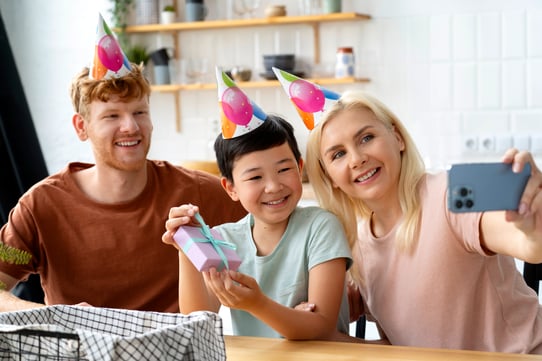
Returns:
[[[247,134],[263,124],[267,114],[250,100],[226,73],[216,69],[218,104],[224,139]]]

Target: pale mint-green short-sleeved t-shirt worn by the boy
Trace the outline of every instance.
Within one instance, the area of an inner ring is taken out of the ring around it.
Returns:
[[[321,208],[297,207],[275,250],[263,257],[256,255],[251,231],[253,222],[249,214],[236,223],[216,228],[226,241],[237,245],[236,252],[242,259],[238,271],[255,278],[262,292],[282,305],[295,307],[307,301],[312,267],[336,258],[347,258],[347,269],[352,264],[342,225],[333,214]],[[230,312],[235,335],[281,337],[248,312],[233,309]],[[337,327],[348,333],[348,325],[345,288]]]

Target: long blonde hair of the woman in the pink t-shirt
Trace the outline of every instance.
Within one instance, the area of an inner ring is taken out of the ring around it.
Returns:
[[[405,144],[399,176],[399,202],[404,217],[397,228],[396,241],[399,249],[411,251],[416,246],[418,237],[421,218],[418,184],[425,173],[425,166],[408,131],[383,103],[363,92],[350,91],[344,93],[339,101],[326,111],[322,120],[311,131],[307,143],[306,169],[309,181],[320,206],[339,217],[352,247],[358,237],[358,219],[369,221],[372,211],[362,200],[352,198],[341,189],[333,187],[321,158],[320,142],[322,130],[328,121],[342,112],[357,109],[370,110],[390,131],[395,128]]]

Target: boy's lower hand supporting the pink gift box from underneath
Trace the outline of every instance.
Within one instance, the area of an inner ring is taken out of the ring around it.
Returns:
[[[240,272],[211,268],[203,272],[203,278],[220,303],[229,308],[250,312],[264,297],[256,280]]]

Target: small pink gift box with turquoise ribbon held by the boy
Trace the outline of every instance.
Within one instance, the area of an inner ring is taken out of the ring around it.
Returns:
[[[195,218],[201,227],[179,227],[173,236],[184,254],[199,271],[212,267],[219,271],[224,268],[236,271],[241,259],[235,253],[235,245],[224,241],[218,230],[210,229],[199,213]]]

